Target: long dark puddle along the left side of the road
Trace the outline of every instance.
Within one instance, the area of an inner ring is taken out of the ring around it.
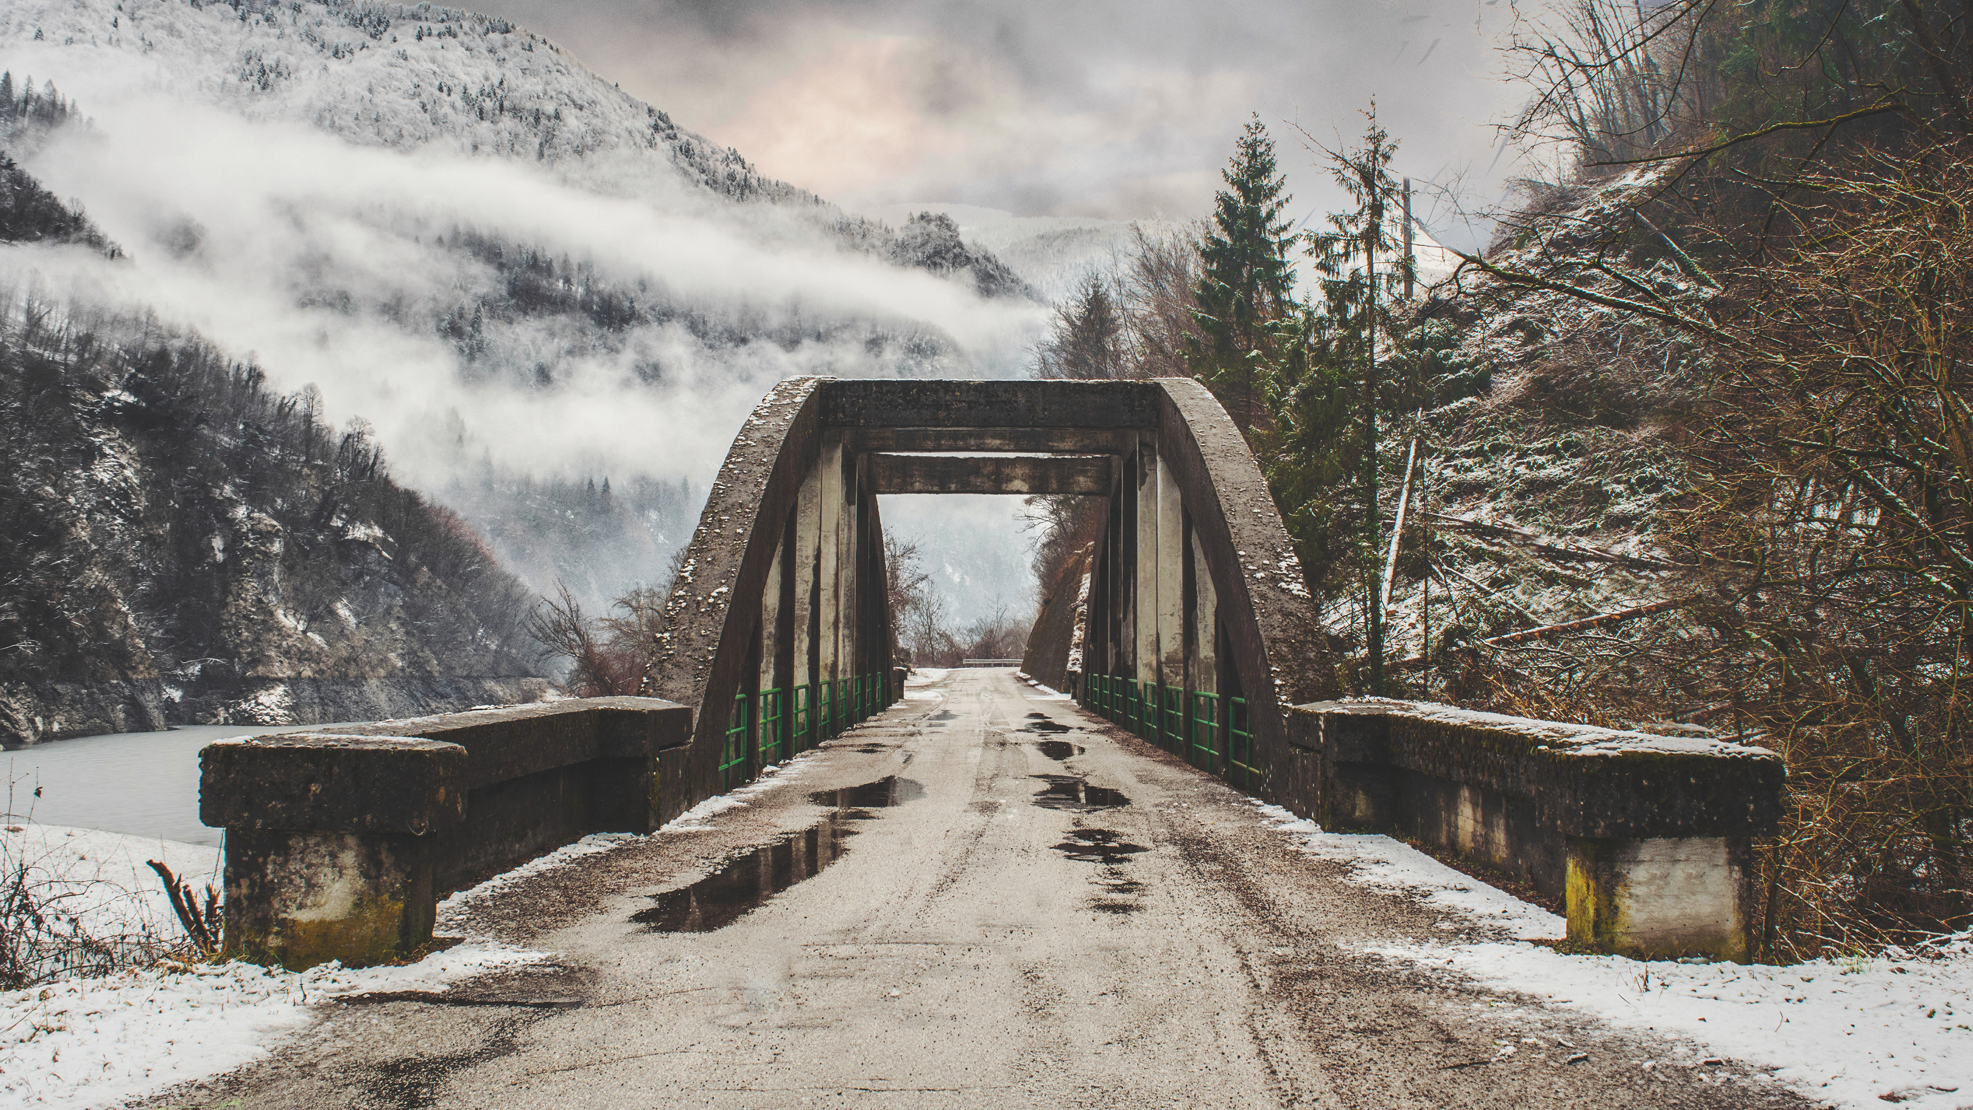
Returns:
[[[728,859],[724,867],[691,887],[651,895],[655,905],[629,918],[651,932],[724,928],[840,859],[848,851],[848,839],[856,835],[856,824],[876,818],[872,810],[900,806],[923,794],[923,786],[896,774],[862,786],[817,790],[809,794],[809,802],[831,806],[827,818],[799,833]]]

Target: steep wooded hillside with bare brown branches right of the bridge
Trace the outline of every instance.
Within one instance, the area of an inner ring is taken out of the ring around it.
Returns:
[[[1312,233],[1255,120],[1213,221],[1085,284],[1042,369],[1219,395],[1346,687],[1782,753],[1768,958],[1965,928],[1973,24],[1947,8],[1529,18],[1509,138],[1549,176],[1430,286],[1375,105]],[[1046,510],[1050,581],[1091,515]]]

